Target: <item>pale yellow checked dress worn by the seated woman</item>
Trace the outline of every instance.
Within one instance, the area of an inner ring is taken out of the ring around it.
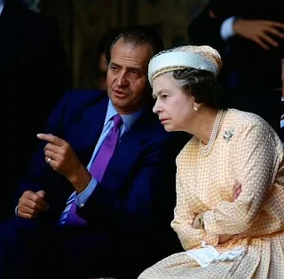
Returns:
[[[233,202],[233,185],[241,195]],[[197,213],[205,229],[193,229]],[[268,124],[229,109],[213,150],[201,155],[197,138],[177,157],[177,205],[171,222],[185,251],[201,241],[219,252],[243,247],[237,260],[200,267],[179,252],[149,267],[139,279],[284,279],[283,143]],[[225,244],[218,235],[232,234]]]

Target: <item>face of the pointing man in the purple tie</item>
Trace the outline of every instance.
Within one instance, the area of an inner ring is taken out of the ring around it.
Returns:
[[[107,93],[120,114],[138,111],[147,97],[147,67],[153,56],[149,44],[114,43],[106,75]]]

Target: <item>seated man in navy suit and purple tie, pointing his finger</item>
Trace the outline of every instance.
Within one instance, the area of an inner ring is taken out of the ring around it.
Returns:
[[[147,64],[159,50],[150,28],[130,27],[110,50],[108,97],[67,92],[51,112],[18,217],[0,228],[4,278],[136,278],[180,249],[170,221],[188,138],[152,112]]]

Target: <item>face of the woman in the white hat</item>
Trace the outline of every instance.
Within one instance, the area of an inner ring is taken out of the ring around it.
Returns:
[[[153,97],[153,112],[159,115],[166,131],[188,131],[193,119],[194,97],[185,93],[171,74],[154,79]]]

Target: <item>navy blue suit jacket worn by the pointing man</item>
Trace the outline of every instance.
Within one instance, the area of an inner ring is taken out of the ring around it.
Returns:
[[[103,128],[107,102],[104,91],[69,91],[51,112],[45,133],[70,143],[87,166]],[[176,202],[175,159],[187,140],[185,134],[167,133],[152,107],[146,107],[122,136],[102,181],[77,213],[96,232],[135,239],[166,236]],[[44,161],[45,144],[32,159],[18,198],[24,190],[45,190],[50,207],[45,218],[57,221],[74,188]]]

